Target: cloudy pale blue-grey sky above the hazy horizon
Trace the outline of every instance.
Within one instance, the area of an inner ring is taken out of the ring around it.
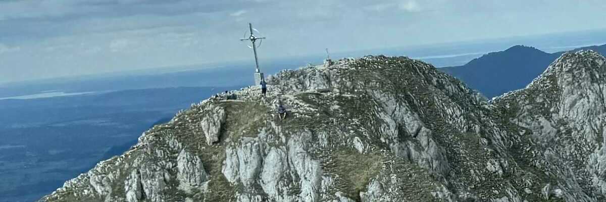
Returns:
[[[0,0],[0,83],[606,28],[603,0]]]

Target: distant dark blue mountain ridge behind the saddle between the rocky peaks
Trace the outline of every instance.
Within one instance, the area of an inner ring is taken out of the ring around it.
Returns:
[[[569,52],[578,50],[594,50],[606,55],[606,44],[582,47]],[[488,53],[463,66],[444,67],[439,70],[461,79],[467,86],[478,90],[487,98],[492,98],[524,88],[562,53],[565,52],[546,53],[534,47],[516,45],[501,52]]]

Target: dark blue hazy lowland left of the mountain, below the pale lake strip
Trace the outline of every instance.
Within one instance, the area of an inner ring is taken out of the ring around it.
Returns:
[[[121,90],[0,100],[0,201],[35,201],[118,155],[142,131],[224,91],[211,87]]]

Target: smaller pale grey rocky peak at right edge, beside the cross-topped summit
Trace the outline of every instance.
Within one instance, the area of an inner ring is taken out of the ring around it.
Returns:
[[[544,185],[545,199],[605,200],[605,61],[593,51],[565,53],[526,89],[493,101],[540,146],[528,148],[533,163],[563,182]]]

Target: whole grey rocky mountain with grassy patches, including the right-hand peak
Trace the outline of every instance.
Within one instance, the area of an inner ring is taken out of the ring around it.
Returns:
[[[193,104],[41,200],[602,201],[604,61],[567,53],[490,102],[405,57],[284,70],[266,98]]]

